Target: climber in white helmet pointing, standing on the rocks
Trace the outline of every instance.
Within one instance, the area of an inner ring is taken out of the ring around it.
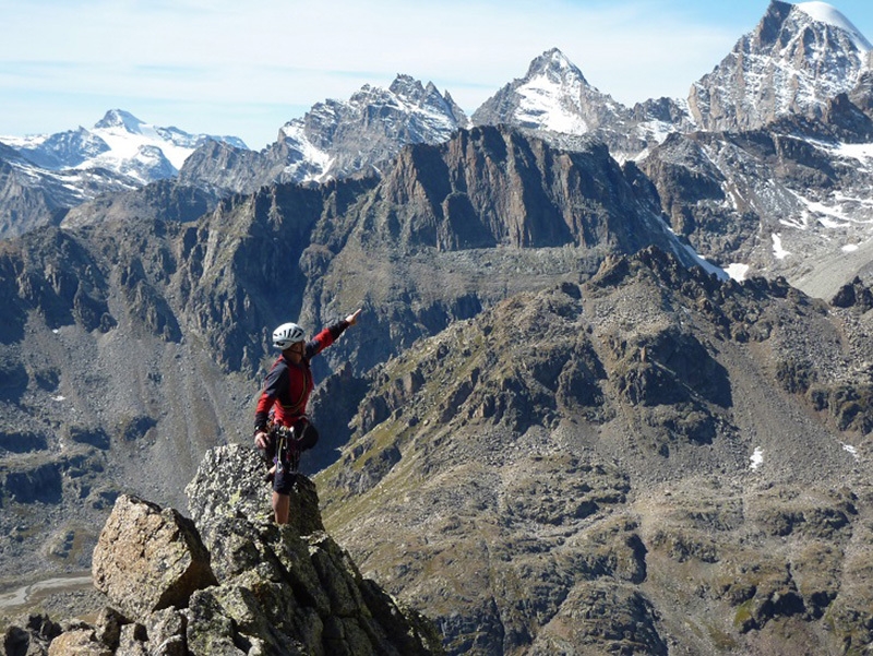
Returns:
[[[303,329],[283,323],[273,331],[273,346],[282,355],[264,380],[264,390],[254,414],[254,444],[271,456],[275,453],[273,473],[273,514],[276,524],[287,524],[290,492],[301,451],[315,445],[318,432],[306,416],[307,402],[314,383],[309,361],[333,344],[339,335],[358,322],[358,309],[306,342]],[[271,420],[273,430],[267,429]],[[277,442],[284,442],[279,445]],[[282,448],[284,446],[284,448]]]

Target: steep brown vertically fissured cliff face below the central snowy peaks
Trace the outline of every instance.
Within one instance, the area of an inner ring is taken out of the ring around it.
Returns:
[[[634,186],[602,143],[578,146],[562,151],[515,130],[475,128],[440,146],[409,147],[379,190],[388,220],[375,227],[442,251],[579,246],[631,253],[641,239],[677,250],[653,211],[656,198]]]

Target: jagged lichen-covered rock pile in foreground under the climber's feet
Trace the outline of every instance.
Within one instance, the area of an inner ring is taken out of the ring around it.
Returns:
[[[308,478],[295,521],[279,527],[262,476],[251,449],[226,445],[186,490],[193,521],[119,497],[94,553],[109,606],[95,625],[31,617],[7,631],[5,654],[443,653],[433,625],[363,579],[324,532]]]

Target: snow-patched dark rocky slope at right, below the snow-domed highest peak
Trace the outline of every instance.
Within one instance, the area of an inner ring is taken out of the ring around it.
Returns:
[[[842,95],[818,121],[673,134],[638,165],[697,252],[829,298],[869,262],[872,138],[873,118]]]

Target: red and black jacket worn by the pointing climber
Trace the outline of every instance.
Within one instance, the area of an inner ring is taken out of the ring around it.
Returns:
[[[264,391],[258,401],[255,432],[266,428],[271,408],[274,424],[282,426],[291,426],[295,419],[306,414],[309,395],[315,386],[309,361],[336,342],[348,326],[347,321],[337,321],[307,342],[299,365],[285,359],[284,354],[278,357],[266,374]]]

